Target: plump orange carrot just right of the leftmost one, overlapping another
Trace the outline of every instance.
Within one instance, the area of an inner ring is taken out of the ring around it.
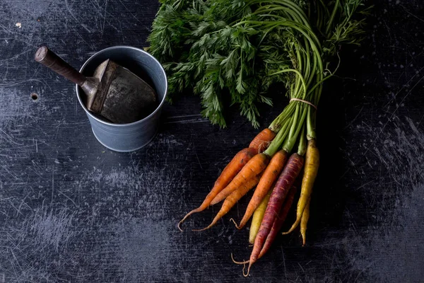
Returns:
[[[262,171],[265,170],[266,166],[269,163],[270,157],[266,154],[257,154],[250,159],[245,167],[242,168],[240,173],[238,173],[231,183],[228,184],[223,190],[221,190],[218,195],[212,200],[211,204],[217,204],[221,200],[224,200],[225,197],[228,197],[232,192],[237,190],[243,183],[252,178],[255,175],[259,175]]]

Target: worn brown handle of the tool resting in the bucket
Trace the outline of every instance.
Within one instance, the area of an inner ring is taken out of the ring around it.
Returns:
[[[86,76],[76,71],[76,69],[73,69],[71,65],[64,62],[61,57],[57,56],[57,54],[49,50],[46,46],[38,48],[35,53],[35,61],[52,69],[57,72],[57,74],[64,76],[66,79],[69,79],[69,81],[73,81],[73,83],[78,84],[78,86],[82,86],[86,81]]]

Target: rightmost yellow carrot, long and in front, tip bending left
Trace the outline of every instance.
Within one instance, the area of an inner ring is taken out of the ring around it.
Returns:
[[[302,178],[302,189],[300,190],[300,197],[298,201],[298,209],[296,211],[296,221],[291,226],[290,230],[284,232],[283,235],[293,231],[302,219],[303,211],[305,210],[307,201],[312,194],[312,187],[314,187],[315,178],[317,178],[319,168],[319,151],[315,140],[311,139],[307,143],[306,158],[305,158],[305,171]]]

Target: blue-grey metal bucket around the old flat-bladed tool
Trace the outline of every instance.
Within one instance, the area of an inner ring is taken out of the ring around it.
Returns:
[[[158,132],[160,112],[167,95],[167,78],[163,67],[151,54],[136,47],[115,46],[97,52],[81,67],[81,74],[92,76],[98,65],[106,59],[129,69],[155,88],[157,108],[142,120],[128,124],[114,124],[88,111],[83,90],[76,86],[78,101],[86,111],[93,133],[101,144],[113,151],[135,151],[141,149]]]

